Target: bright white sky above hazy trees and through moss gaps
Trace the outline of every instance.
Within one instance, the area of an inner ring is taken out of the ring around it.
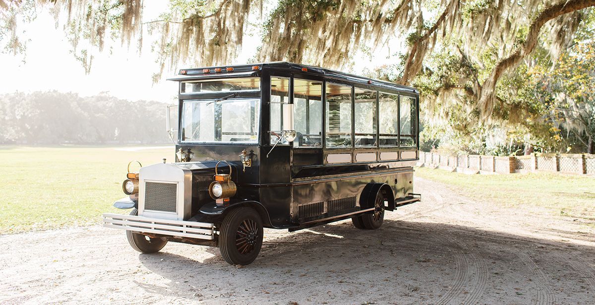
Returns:
[[[151,5],[143,11],[143,18],[154,20],[167,8],[165,5],[167,1],[151,1]],[[176,83],[165,80],[173,73],[166,73],[161,82],[152,83],[151,76],[158,71],[158,66],[149,51],[139,55],[134,46],[127,49],[115,43],[112,54],[106,50],[102,54],[94,54],[91,71],[87,75],[82,64],[70,54],[71,45],[64,37],[62,27],[56,29],[54,17],[47,9],[40,12],[35,21],[20,24],[18,29],[26,30],[26,36],[30,39],[26,57],[0,53],[3,72],[0,73],[0,93],[56,90],[88,96],[108,92],[115,97],[133,101],[177,100]],[[250,39],[259,38],[249,37],[245,41]],[[252,57],[256,46],[257,43],[245,43],[236,64],[245,63]],[[394,47],[391,49],[394,50]],[[372,62],[376,65],[385,63],[386,49],[377,50],[375,54],[375,58],[356,63],[356,74],[357,70],[361,71],[361,67],[370,66]]]

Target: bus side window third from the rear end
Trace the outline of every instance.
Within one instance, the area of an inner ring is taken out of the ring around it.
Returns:
[[[355,147],[376,145],[376,91],[355,88]]]

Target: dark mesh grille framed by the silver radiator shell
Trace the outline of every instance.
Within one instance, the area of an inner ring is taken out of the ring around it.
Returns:
[[[145,182],[145,210],[177,213],[177,184]]]

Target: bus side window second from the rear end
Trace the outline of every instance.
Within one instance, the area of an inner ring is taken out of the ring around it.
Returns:
[[[380,146],[398,147],[399,146],[399,95],[387,94],[381,92],[378,95],[378,104],[380,107]]]

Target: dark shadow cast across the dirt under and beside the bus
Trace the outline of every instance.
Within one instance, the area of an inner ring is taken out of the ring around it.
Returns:
[[[217,303],[564,304],[588,303],[595,288],[593,247],[444,223],[320,226],[265,240],[245,267],[217,248],[196,247],[211,254],[202,262],[164,250],[141,262],[170,284],[137,284]]]

